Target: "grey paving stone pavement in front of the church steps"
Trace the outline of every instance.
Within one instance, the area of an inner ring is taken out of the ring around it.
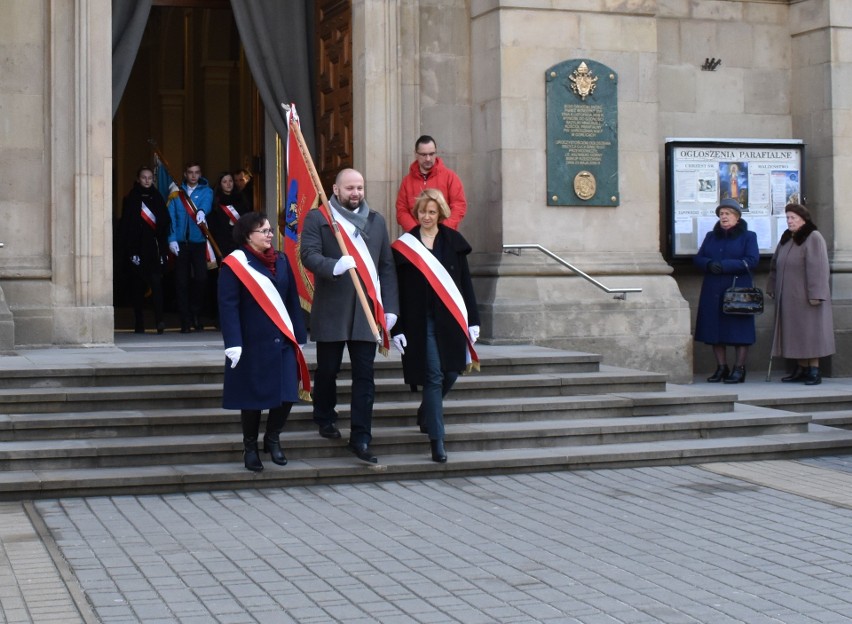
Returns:
[[[848,623],[850,466],[3,503],[0,622]]]

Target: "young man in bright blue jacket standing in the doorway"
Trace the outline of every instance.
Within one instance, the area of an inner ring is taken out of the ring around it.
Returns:
[[[189,215],[180,197],[169,202],[169,217],[172,229],[169,232],[169,249],[175,255],[175,290],[180,331],[187,334],[190,327],[196,331],[204,329],[201,309],[204,305],[204,285],[207,282],[207,242],[198,227],[207,223],[207,215],[213,209],[213,189],[201,176],[201,166],[190,161],[183,172],[184,192],[198,208],[193,218]]]

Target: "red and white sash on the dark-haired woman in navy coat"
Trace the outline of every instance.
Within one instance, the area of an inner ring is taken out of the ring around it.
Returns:
[[[293,321],[290,320],[290,314],[284,306],[284,301],[281,299],[281,294],[275,288],[272,280],[249,266],[246,253],[242,249],[237,249],[227,256],[222,264],[228,265],[234,275],[239,278],[249,294],[254,298],[260,308],[266,313],[270,320],[275,323],[275,326],[281,330],[281,333],[293,344],[293,350],[296,352],[296,364],[299,372],[299,398],[304,401],[310,400],[311,393],[311,376],[308,372],[308,364],[305,362],[305,354],[302,353],[302,348],[299,346],[296,336],[293,333]]]

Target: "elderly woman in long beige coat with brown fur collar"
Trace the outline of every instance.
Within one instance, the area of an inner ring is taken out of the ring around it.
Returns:
[[[822,381],[819,358],[834,353],[828,250],[810,211],[787,204],[787,231],[781,236],[766,293],[775,298],[773,356],[797,360],[784,382],[813,386]]]

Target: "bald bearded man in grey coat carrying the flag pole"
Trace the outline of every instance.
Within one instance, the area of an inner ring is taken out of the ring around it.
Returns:
[[[385,220],[371,210],[364,199],[363,176],[354,169],[338,173],[329,205],[341,222],[340,226],[345,225],[354,238],[360,237],[366,244],[369,258],[364,260],[372,260],[375,265],[385,323],[390,332],[399,314],[396,269]],[[319,210],[311,210],[305,216],[301,257],[305,268],[314,274],[311,308],[311,338],[317,343],[314,422],[324,438],[340,437],[335,407],[337,375],[345,345],[352,364],[352,425],[348,448],[362,461],[376,463],[370,442],[375,396],[373,362],[378,345],[352,279],[347,275],[348,270],[355,267],[355,259],[341,253],[334,230]]]

